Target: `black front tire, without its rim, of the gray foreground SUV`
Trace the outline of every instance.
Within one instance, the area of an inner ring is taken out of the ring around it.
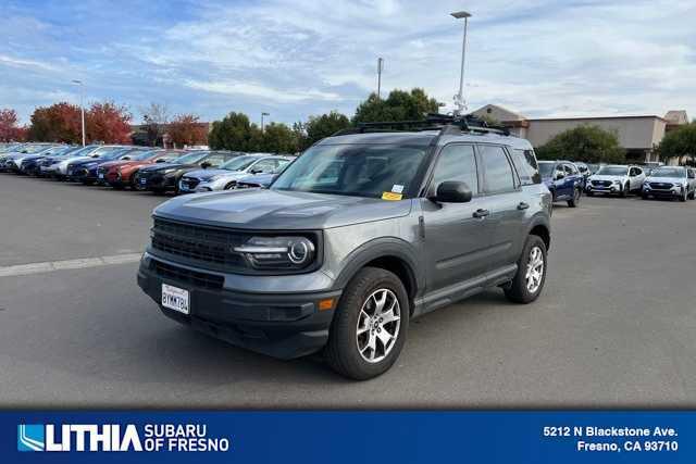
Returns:
[[[387,342],[390,348],[386,356],[377,362],[369,362],[363,359],[358,349],[359,316],[370,297],[382,289],[391,291],[398,300],[400,324],[396,340],[391,343]],[[395,274],[377,267],[360,269],[340,297],[324,351],[326,362],[338,374],[355,380],[366,380],[385,373],[399,358],[403,348],[409,327],[409,314],[408,293]]]

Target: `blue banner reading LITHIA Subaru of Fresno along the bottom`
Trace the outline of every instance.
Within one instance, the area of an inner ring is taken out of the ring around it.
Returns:
[[[695,463],[693,412],[3,412],[0,462]]]

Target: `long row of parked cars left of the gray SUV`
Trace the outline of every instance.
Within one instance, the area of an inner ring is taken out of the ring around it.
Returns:
[[[151,147],[17,143],[0,147],[0,171],[114,189],[189,193],[268,187],[295,158]]]

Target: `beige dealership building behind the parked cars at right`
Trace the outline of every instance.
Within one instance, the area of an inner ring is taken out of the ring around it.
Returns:
[[[527,118],[505,108],[487,104],[473,112],[474,115],[499,121],[510,131],[523,137],[534,147],[540,147],[558,134],[579,126],[598,126],[619,137],[626,150],[626,159],[633,162],[659,161],[655,152],[664,134],[688,123],[685,111],[669,111],[664,116],[604,116],[604,117],[554,117]]]

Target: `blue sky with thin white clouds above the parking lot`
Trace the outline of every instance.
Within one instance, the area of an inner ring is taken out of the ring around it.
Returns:
[[[203,121],[352,114],[376,87],[456,92],[468,9],[470,109],[696,117],[694,0],[0,0],[0,108],[149,102]]]

